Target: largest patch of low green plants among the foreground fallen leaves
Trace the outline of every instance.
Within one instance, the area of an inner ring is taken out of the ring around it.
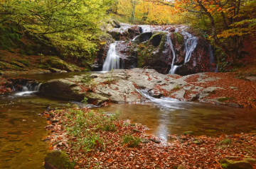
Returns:
[[[119,113],[115,112],[112,115],[107,115],[101,110],[70,109],[65,114],[65,127],[67,127],[68,134],[76,138],[70,144],[73,149],[83,151],[91,151],[92,149],[105,150],[105,138],[100,136],[102,131],[115,131]]]

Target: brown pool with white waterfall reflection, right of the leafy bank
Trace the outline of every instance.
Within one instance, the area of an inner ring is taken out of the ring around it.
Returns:
[[[112,104],[100,107],[107,112],[119,110],[120,120],[149,127],[149,133],[162,139],[168,134],[194,132],[196,135],[218,136],[256,131],[256,112],[253,109],[210,105],[206,103],[175,103],[178,109],[163,107],[156,103]]]

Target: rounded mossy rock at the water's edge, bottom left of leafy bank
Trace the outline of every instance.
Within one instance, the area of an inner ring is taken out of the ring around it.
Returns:
[[[46,169],[72,169],[75,163],[70,162],[68,155],[63,151],[52,151],[45,158]]]

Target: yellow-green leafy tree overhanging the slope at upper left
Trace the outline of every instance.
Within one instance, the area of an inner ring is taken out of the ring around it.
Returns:
[[[38,38],[46,37],[51,45],[58,47],[63,57],[84,57],[82,62],[89,62],[97,51],[94,40],[100,34],[99,25],[112,2],[113,0],[0,1],[0,23],[16,23],[21,26],[23,33]]]

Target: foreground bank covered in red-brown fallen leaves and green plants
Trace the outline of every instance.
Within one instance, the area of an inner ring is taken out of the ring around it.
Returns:
[[[218,137],[169,135],[166,143],[146,128],[88,108],[51,110],[53,151],[65,151],[75,168],[225,168],[256,165],[256,134]],[[72,159],[72,160],[71,160]],[[227,160],[223,160],[227,159]],[[230,161],[228,161],[230,160]],[[222,163],[222,164],[220,164]],[[248,167],[249,166],[249,167]]]

